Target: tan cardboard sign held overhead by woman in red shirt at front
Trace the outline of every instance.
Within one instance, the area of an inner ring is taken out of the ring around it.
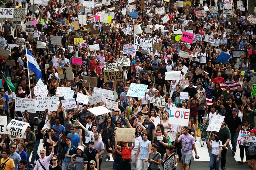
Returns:
[[[134,132],[135,132],[135,128],[117,128],[116,141],[117,142],[122,142],[122,141],[133,142]]]

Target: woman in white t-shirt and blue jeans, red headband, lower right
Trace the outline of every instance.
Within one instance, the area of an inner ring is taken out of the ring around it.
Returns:
[[[215,163],[215,169],[219,170],[221,152],[222,152],[222,141],[219,140],[218,132],[212,133],[212,140],[208,142],[209,149],[212,150],[210,155],[210,170],[213,170],[213,164]]]

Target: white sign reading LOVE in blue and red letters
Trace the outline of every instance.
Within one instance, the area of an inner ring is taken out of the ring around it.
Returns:
[[[170,107],[168,123],[174,125],[188,125],[190,109]]]

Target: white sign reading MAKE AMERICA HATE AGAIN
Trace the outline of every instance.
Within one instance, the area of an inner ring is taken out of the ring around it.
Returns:
[[[58,108],[58,97],[36,97],[36,111],[56,111]]]

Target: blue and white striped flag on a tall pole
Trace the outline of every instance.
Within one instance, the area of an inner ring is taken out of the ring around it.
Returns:
[[[36,59],[33,57],[33,55],[31,54],[31,52],[28,49],[26,49],[26,52],[27,52],[28,69],[31,69],[31,71],[35,73],[35,76],[38,79],[43,80],[42,72],[41,72],[40,67],[37,64]]]

